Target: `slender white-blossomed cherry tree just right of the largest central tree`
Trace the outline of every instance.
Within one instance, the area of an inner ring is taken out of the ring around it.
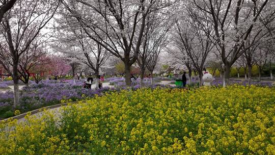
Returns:
[[[170,16],[164,16],[163,14],[156,13],[148,15],[146,18],[145,32],[142,40],[142,45],[139,51],[139,56],[137,57],[137,64],[140,67],[140,78],[141,85],[144,85],[144,74],[146,68],[148,68],[153,75],[153,70],[158,61],[157,57],[161,51],[166,46],[168,32],[172,25],[173,21],[168,20]],[[133,45],[135,48],[135,44]],[[133,50],[134,51],[134,50]],[[156,58],[155,58],[156,57]],[[152,58],[154,60],[152,60]]]

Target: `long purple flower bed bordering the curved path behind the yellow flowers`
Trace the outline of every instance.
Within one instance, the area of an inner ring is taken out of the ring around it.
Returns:
[[[54,81],[45,80],[39,84],[31,82],[29,87],[23,87],[20,90],[20,108],[21,112],[31,111],[45,106],[60,104],[61,100],[71,99],[72,101],[93,97],[94,95],[102,95],[105,92],[120,91],[122,89],[136,90],[141,88],[140,80],[132,81],[131,87],[126,87],[121,78],[113,78],[114,88],[103,87],[101,89],[85,89],[83,88],[85,80],[65,80]],[[145,85],[152,89],[162,85],[151,85],[150,81],[145,81]],[[166,86],[168,87],[168,86]],[[0,113],[12,111],[13,92],[0,93]]]

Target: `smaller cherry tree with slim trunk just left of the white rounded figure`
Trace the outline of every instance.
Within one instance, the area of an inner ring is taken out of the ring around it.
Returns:
[[[208,54],[215,44],[209,39],[212,34],[212,27],[209,21],[202,22],[198,14],[187,9],[189,12],[185,18],[176,23],[174,42],[180,51],[188,56],[194,68],[199,74],[200,86],[202,86],[203,68]],[[189,20],[188,20],[189,19]]]

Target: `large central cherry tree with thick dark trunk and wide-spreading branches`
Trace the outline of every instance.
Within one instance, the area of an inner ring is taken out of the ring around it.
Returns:
[[[130,68],[138,57],[142,43],[146,17],[174,3],[161,0],[60,1],[91,39],[124,62],[125,82],[128,86],[131,84]],[[136,34],[139,37],[131,52]]]

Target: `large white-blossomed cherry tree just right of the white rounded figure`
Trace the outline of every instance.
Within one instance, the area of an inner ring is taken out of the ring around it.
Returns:
[[[266,6],[274,6],[274,2],[193,0],[191,3],[213,24],[215,33],[210,38],[217,42],[218,53],[225,65],[226,83],[229,83],[231,66],[248,48],[243,48],[244,43],[255,31],[253,28],[259,23],[261,13],[266,12],[267,16],[273,14],[274,10],[268,11]]]

